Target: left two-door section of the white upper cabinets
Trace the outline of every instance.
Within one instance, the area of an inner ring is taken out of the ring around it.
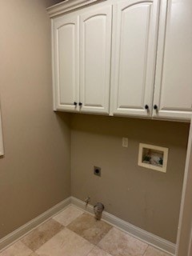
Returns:
[[[53,19],[54,110],[109,114],[112,6]]]

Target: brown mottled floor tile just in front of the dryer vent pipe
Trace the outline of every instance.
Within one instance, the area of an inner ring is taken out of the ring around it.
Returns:
[[[112,226],[106,222],[97,221],[90,214],[82,214],[74,222],[71,222],[67,228],[86,238],[94,245],[97,245]]]

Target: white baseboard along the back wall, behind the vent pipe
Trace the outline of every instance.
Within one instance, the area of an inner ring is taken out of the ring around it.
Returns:
[[[79,200],[78,198],[71,197],[70,202],[71,204],[74,204],[74,206],[78,206],[79,208],[89,212],[90,214],[94,213],[94,206],[88,205],[86,207],[85,202]],[[121,218],[117,218],[114,215],[107,213],[106,211],[103,211],[102,219],[106,222],[109,222],[113,226],[117,226],[119,229],[126,231],[135,238],[138,238],[143,242],[150,244],[151,246],[163,250],[166,253],[175,255],[176,245],[173,242],[169,242],[163,238],[158,237],[155,234],[151,234],[146,230],[142,230],[139,227],[130,224],[129,222],[123,221]]]

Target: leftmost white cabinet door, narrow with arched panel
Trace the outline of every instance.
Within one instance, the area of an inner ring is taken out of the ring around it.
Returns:
[[[78,16],[53,20],[54,110],[78,110],[79,34]]]

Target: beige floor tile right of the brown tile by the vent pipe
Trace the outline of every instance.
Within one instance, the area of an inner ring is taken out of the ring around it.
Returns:
[[[147,244],[113,227],[98,247],[114,256],[142,256]]]

